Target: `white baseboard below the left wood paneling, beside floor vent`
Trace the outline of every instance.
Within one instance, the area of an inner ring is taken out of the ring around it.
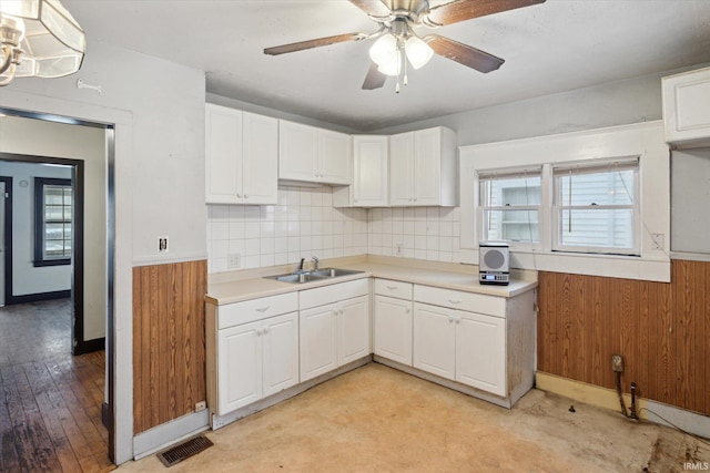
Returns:
[[[133,436],[133,459],[140,460],[210,429],[206,409],[183,415]]]

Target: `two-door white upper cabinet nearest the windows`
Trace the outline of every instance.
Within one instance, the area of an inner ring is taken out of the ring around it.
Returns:
[[[456,134],[443,126],[389,137],[389,205],[456,205]]]

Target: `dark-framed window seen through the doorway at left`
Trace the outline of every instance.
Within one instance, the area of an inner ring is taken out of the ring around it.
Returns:
[[[34,178],[34,266],[71,263],[70,179]]]

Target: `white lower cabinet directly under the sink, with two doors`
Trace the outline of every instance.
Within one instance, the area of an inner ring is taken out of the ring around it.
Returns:
[[[366,279],[301,291],[301,381],[368,356]]]

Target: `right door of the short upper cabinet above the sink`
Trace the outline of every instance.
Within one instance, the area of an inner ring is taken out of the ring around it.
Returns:
[[[328,184],[351,184],[352,150],[349,135],[318,130],[317,181]]]

